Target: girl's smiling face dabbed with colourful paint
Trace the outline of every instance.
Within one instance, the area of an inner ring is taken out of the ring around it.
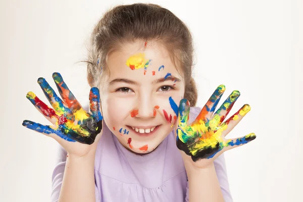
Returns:
[[[183,77],[157,43],[125,43],[109,56],[108,67],[101,88],[104,121],[129,150],[153,151],[174,128]]]

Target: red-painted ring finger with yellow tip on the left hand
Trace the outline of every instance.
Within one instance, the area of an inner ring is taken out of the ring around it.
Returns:
[[[45,103],[43,103],[33,92],[28,92],[26,97],[30,100],[30,102],[35,106],[35,108],[48,120],[53,124],[57,123],[60,120],[60,115],[56,113],[56,111],[52,108],[49,108]],[[64,115],[61,115],[64,116]]]

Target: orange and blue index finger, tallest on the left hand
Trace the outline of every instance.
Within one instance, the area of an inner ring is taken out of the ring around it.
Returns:
[[[58,91],[64,101],[64,103],[67,105],[69,109],[71,109],[72,112],[80,110],[82,107],[74,94],[69,90],[66,83],[64,82],[62,76],[60,73],[55,72],[53,73],[53,79],[56,83],[56,86],[58,88]]]

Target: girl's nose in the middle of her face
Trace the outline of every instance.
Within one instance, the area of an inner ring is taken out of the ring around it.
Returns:
[[[151,118],[154,117],[154,102],[153,97],[149,94],[142,93],[136,100],[137,102],[137,115],[140,118]]]

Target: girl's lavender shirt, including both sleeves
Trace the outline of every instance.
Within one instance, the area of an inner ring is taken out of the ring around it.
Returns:
[[[189,123],[201,108],[191,107]],[[54,169],[52,202],[58,201],[66,163],[66,150]],[[224,153],[214,161],[225,201],[232,201]],[[188,201],[188,182],[183,160],[171,132],[151,153],[140,156],[126,149],[104,124],[94,164],[96,201]]]

